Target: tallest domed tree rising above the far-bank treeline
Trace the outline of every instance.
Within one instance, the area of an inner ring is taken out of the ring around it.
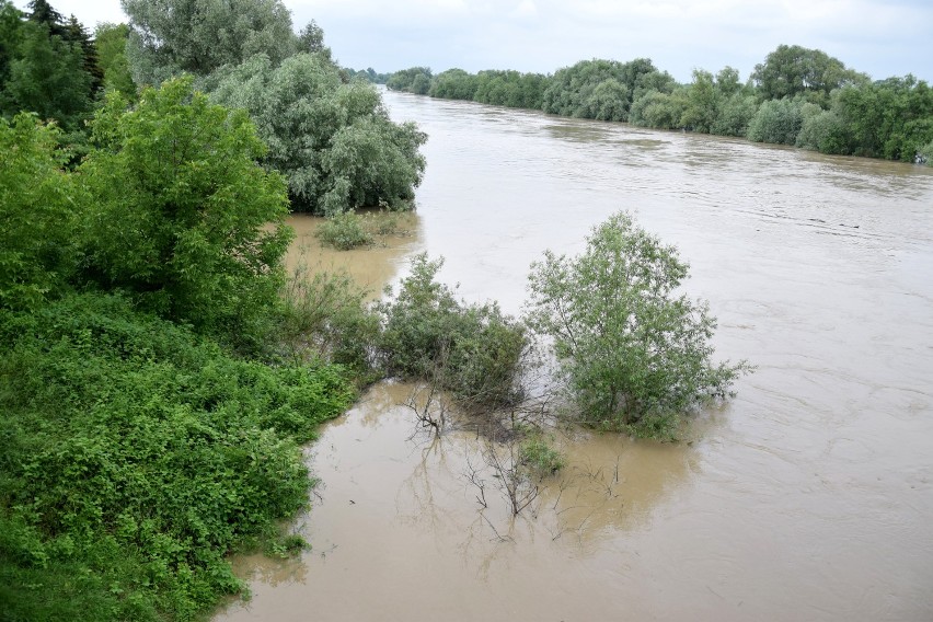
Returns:
[[[762,100],[810,93],[823,107],[833,89],[867,82],[866,76],[846,69],[839,59],[798,45],[779,45],[763,64],[755,66],[751,79]]]

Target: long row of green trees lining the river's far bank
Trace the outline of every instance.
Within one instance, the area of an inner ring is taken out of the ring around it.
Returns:
[[[649,59],[583,60],[553,76],[433,74],[414,67],[388,88],[548,114],[683,129],[831,154],[933,163],[933,92],[912,76],[872,81],[818,49],[781,45],[746,82],[732,67],[678,83]]]

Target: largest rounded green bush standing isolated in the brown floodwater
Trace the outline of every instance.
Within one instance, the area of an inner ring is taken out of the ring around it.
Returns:
[[[581,422],[671,438],[679,417],[729,395],[745,364],[712,364],[715,319],[675,290],[688,266],[625,214],[577,257],[546,252],[529,276],[529,325],[553,339]]]

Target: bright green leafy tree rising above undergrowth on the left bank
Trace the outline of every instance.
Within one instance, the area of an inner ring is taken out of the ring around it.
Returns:
[[[250,347],[284,279],[284,181],[255,163],[264,147],[245,113],[193,93],[189,78],[124,106],[107,99],[80,169],[87,276]]]

